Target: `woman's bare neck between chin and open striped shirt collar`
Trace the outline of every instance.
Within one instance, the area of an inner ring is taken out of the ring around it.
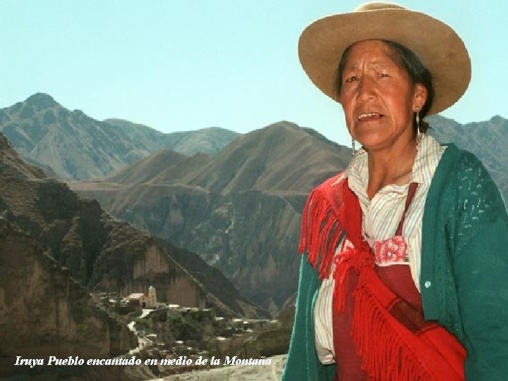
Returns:
[[[367,195],[372,199],[389,184],[404,185],[411,180],[411,170],[418,150],[418,139],[384,150],[368,150]]]

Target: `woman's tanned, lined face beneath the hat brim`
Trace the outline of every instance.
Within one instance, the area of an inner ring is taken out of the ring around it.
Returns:
[[[411,83],[384,42],[366,40],[351,47],[339,102],[349,133],[367,150],[411,142],[413,112],[426,97],[425,87]]]

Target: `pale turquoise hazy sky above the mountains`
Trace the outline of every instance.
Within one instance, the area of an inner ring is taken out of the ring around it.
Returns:
[[[246,133],[287,120],[349,145],[339,104],[310,83],[296,46],[313,20],[361,3],[0,0],[0,108],[46,92],[92,118],[164,132],[219,126]],[[471,85],[442,115],[461,123],[506,118],[505,2],[399,4],[444,20],[468,47]]]

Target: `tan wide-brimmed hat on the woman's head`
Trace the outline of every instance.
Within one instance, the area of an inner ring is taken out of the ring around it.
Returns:
[[[298,56],[310,80],[338,102],[337,70],[344,50],[362,40],[391,40],[411,49],[433,75],[429,114],[452,106],[471,80],[471,61],[459,35],[442,21],[393,3],[370,2],[351,13],[320,18],[303,30]]]

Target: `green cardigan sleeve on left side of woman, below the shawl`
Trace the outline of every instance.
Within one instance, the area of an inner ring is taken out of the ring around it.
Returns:
[[[335,364],[323,365],[317,358],[314,339],[313,305],[320,282],[317,271],[302,255],[295,319],[282,381],[330,381]]]

